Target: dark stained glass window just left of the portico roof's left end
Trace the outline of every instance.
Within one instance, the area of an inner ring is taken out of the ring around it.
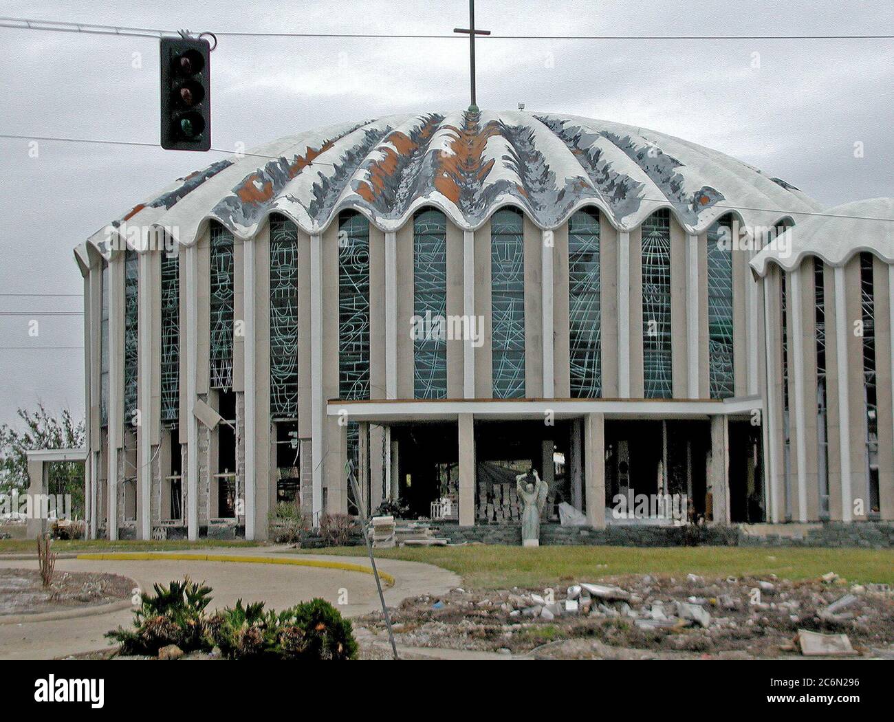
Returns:
[[[270,414],[298,417],[298,227],[270,218]]]

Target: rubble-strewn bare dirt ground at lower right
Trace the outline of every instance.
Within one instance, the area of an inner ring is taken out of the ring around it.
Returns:
[[[894,593],[885,585],[697,575],[625,575],[597,584],[610,589],[592,598],[575,586],[455,589],[404,600],[392,624],[398,644],[409,647],[552,659],[794,656],[800,654],[794,643],[799,629],[847,634],[864,656],[894,654]],[[566,611],[569,598],[577,610],[572,603]],[[702,610],[696,618],[694,607]],[[379,639],[384,634],[381,614],[361,617],[358,625]]]

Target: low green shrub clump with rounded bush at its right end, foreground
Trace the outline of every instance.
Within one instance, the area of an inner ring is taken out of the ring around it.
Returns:
[[[350,621],[328,601],[315,599],[277,613],[256,602],[218,612],[211,636],[227,659],[355,659]]]

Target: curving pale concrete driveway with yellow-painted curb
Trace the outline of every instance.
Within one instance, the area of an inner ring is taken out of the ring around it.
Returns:
[[[202,549],[194,552],[214,556],[270,557],[294,552],[288,547],[252,547],[246,549]],[[158,552],[164,556],[167,552]],[[348,562],[369,566],[367,557],[333,557],[322,554],[289,554],[294,558],[316,559],[326,563]],[[449,592],[460,584],[452,572],[418,562],[376,559],[376,566],[394,577],[394,585],[384,591],[385,602],[396,606],[402,599],[417,594]],[[37,559],[2,559],[0,567],[37,568]],[[372,575],[342,569],[294,567],[263,563],[195,561],[172,558],[131,559],[59,559],[56,573],[66,571],[106,572],[133,579],[140,590],[151,590],[153,583],[169,583],[184,575],[204,581],[213,589],[212,608],[230,606],[237,599],[263,600],[269,609],[285,609],[302,600],[322,597],[332,602],[346,617],[358,617],[380,609]],[[345,603],[346,602],[346,603]],[[117,626],[131,625],[130,609],[68,619],[0,623],[0,659],[53,659],[76,652],[105,649],[104,634]]]

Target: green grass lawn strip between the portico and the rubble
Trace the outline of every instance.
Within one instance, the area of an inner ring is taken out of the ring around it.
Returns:
[[[364,550],[342,547],[312,553],[363,556]],[[894,583],[894,550],[468,546],[384,549],[375,550],[375,556],[427,562],[456,572],[470,587],[492,589],[690,572],[721,577],[775,574],[793,581],[835,572],[848,582]]]

